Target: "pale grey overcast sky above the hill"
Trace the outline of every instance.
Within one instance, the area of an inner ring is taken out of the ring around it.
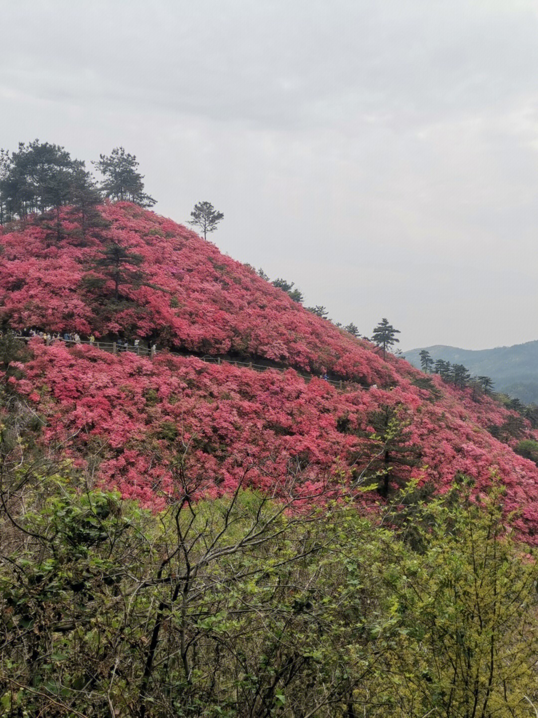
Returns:
[[[400,346],[538,339],[538,0],[0,0],[0,146],[136,154],[156,211]]]

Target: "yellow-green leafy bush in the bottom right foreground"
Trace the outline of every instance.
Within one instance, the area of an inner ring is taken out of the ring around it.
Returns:
[[[412,716],[533,714],[535,562],[516,558],[522,551],[506,535],[503,489],[494,484],[478,501],[472,493],[461,482],[417,507],[410,522],[420,526],[421,554],[402,557],[391,579],[392,611],[406,626],[398,691]]]

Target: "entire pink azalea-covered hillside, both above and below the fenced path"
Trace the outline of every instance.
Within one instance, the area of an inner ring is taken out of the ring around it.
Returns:
[[[384,362],[171,220],[126,203],[101,213],[107,226],[83,237],[66,210],[60,241],[43,223],[4,228],[4,329],[138,335],[161,350],[264,358],[275,368],[258,373],[166,351],[154,360],[111,355],[36,338],[11,361],[6,382],[39,416],[38,442],[152,507],[174,493],[185,457],[192,495],[212,497],[240,484],[278,494],[292,482],[306,502],[345,486],[375,505],[410,479],[444,491],[465,474],[480,491],[498,475],[506,510],[519,510],[516,526],[534,541],[538,469],[511,449],[532,435],[519,416],[404,360]],[[112,245],[141,258],[123,267],[117,300],[113,280],[100,276]],[[346,380],[343,391],[296,369],[326,369]],[[377,491],[363,495],[364,485]]]

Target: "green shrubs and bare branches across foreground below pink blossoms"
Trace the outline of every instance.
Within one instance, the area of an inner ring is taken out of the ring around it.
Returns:
[[[1,714],[532,716],[536,563],[496,482],[410,482],[370,522],[345,488],[322,508],[293,485],[206,497],[181,454],[152,513],[91,487],[95,457],[80,472],[31,449],[7,408]],[[405,417],[378,423],[384,446],[405,437]]]

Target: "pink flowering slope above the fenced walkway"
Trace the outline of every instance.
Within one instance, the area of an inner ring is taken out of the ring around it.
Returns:
[[[105,205],[110,226],[80,238],[63,222],[57,241],[42,225],[0,235],[0,321],[82,335],[153,337],[199,353],[263,357],[364,383],[389,383],[391,368],[362,342],[293,302],[191,230],[136,205]],[[88,287],[92,264],[113,241],[143,257],[144,286],[121,286],[122,302]]]

